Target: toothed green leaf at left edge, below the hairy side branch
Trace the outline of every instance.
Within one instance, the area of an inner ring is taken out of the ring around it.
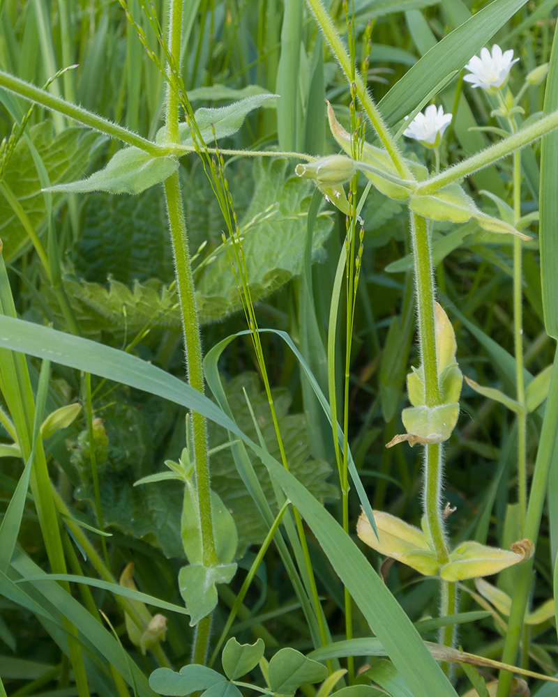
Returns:
[[[66,128],[54,136],[52,123],[44,121],[29,130],[29,138],[43,160],[51,183],[68,181],[83,174],[103,142],[98,133],[85,128]],[[26,139],[22,138],[8,160],[3,172],[3,184],[8,198],[0,192],[0,238],[2,254],[6,261],[14,261],[31,247],[31,241],[21,220],[27,217],[29,224],[39,234],[46,229],[45,197],[37,174],[33,155]],[[10,194],[20,210],[10,203]],[[53,197],[54,210],[62,197]]]

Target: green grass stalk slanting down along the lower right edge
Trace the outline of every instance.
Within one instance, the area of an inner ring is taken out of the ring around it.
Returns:
[[[538,530],[541,526],[541,516],[548,484],[548,472],[552,463],[552,453],[554,452],[556,434],[558,429],[558,350],[555,353],[552,376],[550,377],[550,388],[546,400],[543,427],[541,429],[541,439],[538,444],[536,454],[535,469],[531,482],[531,493],[527,516],[525,519],[525,537],[536,541]],[[511,613],[506,632],[506,642],[502,662],[514,664],[518,653],[525,610],[531,591],[532,573],[534,558],[523,562],[518,567],[518,578],[515,583],[513,599],[511,603]],[[512,674],[508,671],[500,671],[497,697],[507,697],[511,687]]]

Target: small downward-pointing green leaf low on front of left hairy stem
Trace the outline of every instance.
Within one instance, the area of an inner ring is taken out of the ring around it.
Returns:
[[[230,583],[236,574],[236,564],[205,567],[190,564],[179,571],[180,595],[190,614],[190,627],[209,615],[217,605],[217,583]]]

